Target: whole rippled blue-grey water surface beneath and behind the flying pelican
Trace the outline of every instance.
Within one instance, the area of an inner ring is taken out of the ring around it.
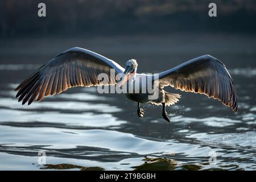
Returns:
[[[256,169],[255,38],[245,36],[168,38],[75,38],[1,40],[0,169]],[[54,41],[53,41],[54,40]],[[237,88],[238,112],[219,101],[183,93],[168,107],[143,105],[96,88],[74,88],[30,106],[14,88],[61,51],[80,46],[123,65],[138,60],[138,72],[165,71],[210,54],[228,68]],[[38,152],[46,164],[38,164]],[[209,164],[210,156],[216,161]],[[93,168],[92,168],[93,167]]]

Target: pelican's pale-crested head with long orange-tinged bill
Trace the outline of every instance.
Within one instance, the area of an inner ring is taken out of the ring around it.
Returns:
[[[131,77],[135,80],[138,63],[135,59],[130,59],[125,64],[125,71],[123,72],[122,80],[120,80],[117,86],[125,84]]]

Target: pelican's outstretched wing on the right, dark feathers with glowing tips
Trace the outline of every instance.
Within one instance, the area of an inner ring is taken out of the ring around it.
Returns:
[[[212,56],[196,57],[159,73],[159,86],[169,85],[185,92],[205,94],[237,111],[237,94],[232,77],[225,65]]]

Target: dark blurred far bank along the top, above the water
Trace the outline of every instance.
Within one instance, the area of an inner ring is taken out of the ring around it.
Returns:
[[[46,3],[40,18],[38,3]],[[208,5],[217,5],[217,18]],[[134,35],[256,31],[254,0],[0,0],[0,35]]]

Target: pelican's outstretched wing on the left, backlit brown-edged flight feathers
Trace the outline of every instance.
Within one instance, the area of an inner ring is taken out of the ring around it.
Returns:
[[[115,74],[110,75],[110,69]],[[43,65],[35,73],[24,80],[15,90],[16,97],[30,105],[35,99],[40,101],[44,96],[59,94],[75,86],[96,86],[116,84],[115,75],[124,69],[115,61],[95,52],[79,47],[68,49]],[[100,73],[108,79],[97,80]]]

